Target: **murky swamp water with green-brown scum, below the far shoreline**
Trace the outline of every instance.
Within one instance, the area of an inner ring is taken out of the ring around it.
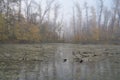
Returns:
[[[120,46],[0,44],[0,80],[120,80]]]

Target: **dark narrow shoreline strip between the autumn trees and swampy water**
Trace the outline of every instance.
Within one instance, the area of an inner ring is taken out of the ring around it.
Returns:
[[[84,40],[84,41],[26,41],[26,40],[6,40],[0,41],[0,44],[53,44],[53,43],[63,43],[63,44],[82,44],[82,45],[120,45],[120,40]]]

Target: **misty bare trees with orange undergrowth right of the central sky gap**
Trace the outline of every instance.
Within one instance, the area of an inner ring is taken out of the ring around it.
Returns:
[[[97,7],[89,7],[85,2],[84,10],[81,9],[79,2],[75,3],[71,17],[73,41],[119,43],[120,1],[112,0],[111,7],[107,7],[104,0],[97,0],[97,3]]]

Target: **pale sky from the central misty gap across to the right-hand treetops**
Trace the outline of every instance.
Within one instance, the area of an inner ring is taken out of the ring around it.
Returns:
[[[88,3],[88,6],[98,6],[98,0],[59,0],[60,4],[62,5],[62,11],[64,11],[64,15],[67,17],[67,19],[72,14],[72,7],[74,6],[75,2],[79,2],[80,6],[84,6],[84,2]],[[104,5],[110,7],[111,6],[111,0],[103,0]],[[82,8],[83,9],[83,8]]]

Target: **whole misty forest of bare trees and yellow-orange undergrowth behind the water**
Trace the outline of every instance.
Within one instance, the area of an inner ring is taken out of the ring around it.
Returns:
[[[0,0],[0,42],[119,42],[120,0],[112,0],[111,7],[96,1],[96,7],[74,2],[64,21],[57,0]]]

